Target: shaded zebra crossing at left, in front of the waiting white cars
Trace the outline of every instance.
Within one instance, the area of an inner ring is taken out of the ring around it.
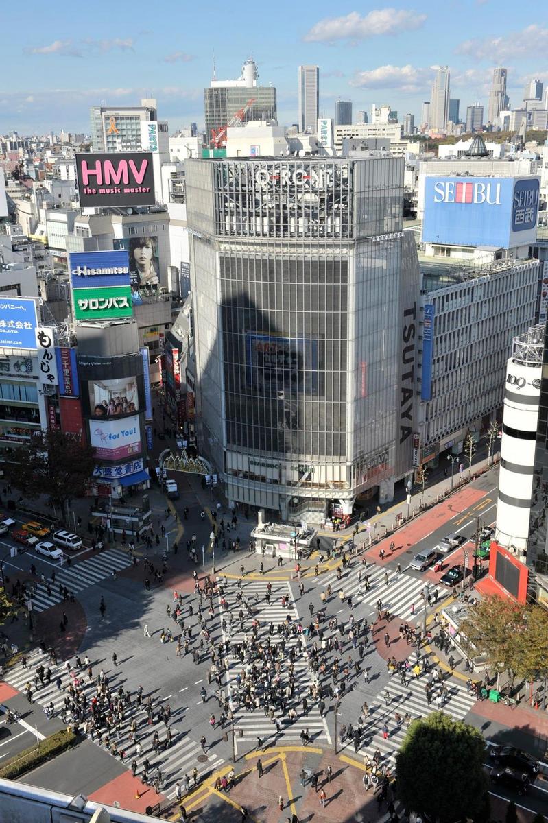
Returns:
[[[127,569],[132,565],[132,558],[118,549],[106,549],[100,554],[82,560],[70,569],[67,565],[58,566],[49,579],[38,581],[30,593],[33,611],[45,611],[65,600],[63,589],[68,593],[81,592],[84,588],[95,586],[110,577],[114,571]]]

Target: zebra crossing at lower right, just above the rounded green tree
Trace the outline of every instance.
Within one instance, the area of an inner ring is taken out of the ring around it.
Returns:
[[[467,692],[464,685],[456,678],[444,681],[448,694],[445,700],[440,700],[442,684],[438,683],[432,687],[432,698],[430,704],[426,699],[425,685],[428,675],[425,672],[419,677],[415,677],[412,667],[416,663],[416,652],[409,657],[411,669],[407,676],[406,686],[402,684],[398,674],[392,675],[388,685],[375,696],[369,703],[369,713],[365,718],[364,733],[361,737],[361,747],[357,754],[369,756],[369,760],[378,749],[381,753],[382,762],[393,764],[398,749],[402,744],[407,727],[404,721],[406,714],[411,715],[411,720],[426,717],[434,711],[443,711],[453,720],[462,720],[476,702],[476,697],[472,692]],[[401,724],[398,725],[395,714],[401,715]],[[348,718],[354,719],[354,718]],[[342,723],[347,723],[347,719],[342,717]],[[388,738],[383,737],[383,726],[388,726]],[[339,727],[340,728],[340,727]],[[337,743],[341,743],[340,740]],[[350,752],[355,752],[355,746],[351,741],[342,744]]]

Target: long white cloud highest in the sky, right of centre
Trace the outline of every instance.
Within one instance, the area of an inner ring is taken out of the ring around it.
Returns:
[[[396,8],[375,9],[365,16],[351,12],[345,17],[320,20],[304,35],[308,43],[329,43],[333,40],[366,40],[377,35],[397,35],[400,31],[420,28],[425,14]]]

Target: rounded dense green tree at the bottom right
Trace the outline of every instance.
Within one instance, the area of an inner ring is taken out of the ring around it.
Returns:
[[[485,740],[443,712],[411,723],[396,756],[397,795],[410,811],[439,823],[476,816],[484,807]]]

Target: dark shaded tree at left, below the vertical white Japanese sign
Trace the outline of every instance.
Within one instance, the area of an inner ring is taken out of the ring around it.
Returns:
[[[80,435],[53,429],[37,432],[30,444],[18,449],[9,475],[22,495],[49,495],[64,516],[67,501],[85,493],[95,463],[93,449]]]

